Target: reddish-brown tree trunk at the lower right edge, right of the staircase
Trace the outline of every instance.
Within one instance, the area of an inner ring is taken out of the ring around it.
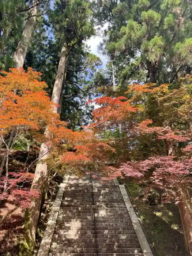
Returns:
[[[189,255],[192,256],[192,202],[185,184],[182,184],[178,189],[177,196],[180,198],[178,206],[185,237],[185,244]]]

